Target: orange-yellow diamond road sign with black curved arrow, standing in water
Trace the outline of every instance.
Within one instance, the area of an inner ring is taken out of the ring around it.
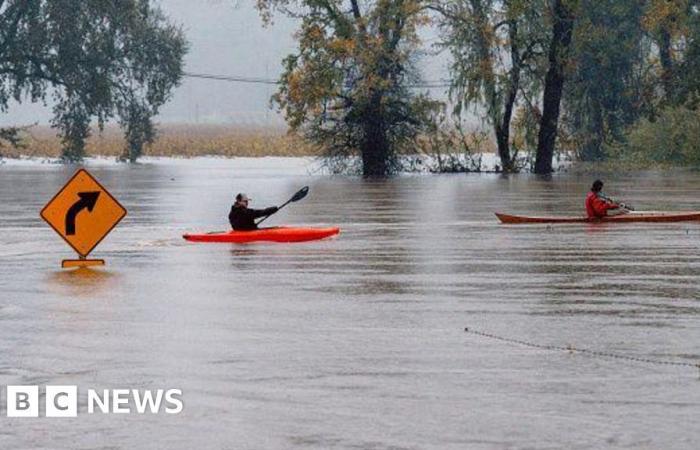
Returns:
[[[80,255],[63,260],[64,268],[104,265],[104,260],[87,256],[124,216],[126,209],[85,169],[41,210],[41,218]]]

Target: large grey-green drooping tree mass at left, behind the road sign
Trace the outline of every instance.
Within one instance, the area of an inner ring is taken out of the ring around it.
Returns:
[[[0,111],[54,101],[63,159],[80,160],[90,123],[118,118],[123,159],[155,137],[152,118],[182,76],[186,42],[148,0],[0,0]]]

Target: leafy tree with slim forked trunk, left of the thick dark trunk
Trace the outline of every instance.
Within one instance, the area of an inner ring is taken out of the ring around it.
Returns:
[[[511,120],[520,92],[532,94],[541,84],[545,2],[459,0],[435,2],[431,8],[442,19],[441,45],[452,55],[450,92],[455,112],[483,105],[502,170],[517,171]]]

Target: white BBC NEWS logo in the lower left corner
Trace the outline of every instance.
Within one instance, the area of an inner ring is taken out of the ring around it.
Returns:
[[[79,411],[78,386],[46,386],[40,401],[39,386],[7,386],[7,417],[77,417],[88,414],[179,414],[184,408],[180,389],[88,389],[86,408]]]

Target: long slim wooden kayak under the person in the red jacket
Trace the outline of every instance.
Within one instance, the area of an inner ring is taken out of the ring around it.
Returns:
[[[633,211],[619,216],[606,216],[600,219],[589,219],[588,217],[576,216],[550,216],[550,217],[528,217],[515,216],[512,214],[496,213],[498,220],[502,223],[601,223],[601,222],[689,222],[700,221],[700,211]]]

